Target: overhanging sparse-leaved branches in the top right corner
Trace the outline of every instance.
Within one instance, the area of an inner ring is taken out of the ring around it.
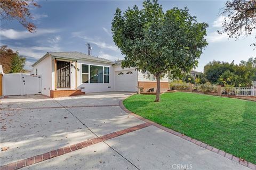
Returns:
[[[256,0],[229,0],[221,9],[223,15],[223,30],[229,38],[251,35],[256,29]],[[256,38],[256,35],[255,35]],[[251,46],[256,47],[256,43]]]

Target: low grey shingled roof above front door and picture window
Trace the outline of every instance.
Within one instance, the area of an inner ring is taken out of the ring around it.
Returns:
[[[94,57],[94,56],[86,55],[79,52],[47,52],[32,66],[35,66],[36,64],[44,60],[44,58],[47,57],[48,55],[51,55],[53,58],[56,57],[56,58],[62,58],[62,59],[68,59],[68,60],[89,60],[89,61],[98,61],[103,63],[115,64],[115,62],[107,60],[106,58]]]

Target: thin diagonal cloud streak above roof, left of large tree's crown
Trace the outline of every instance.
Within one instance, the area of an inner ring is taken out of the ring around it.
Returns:
[[[99,39],[92,39],[92,38],[86,37],[81,32],[72,32],[71,35],[72,35],[72,37],[82,38],[86,41],[89,41],[89,43],[95,44],[98,47],[100,47],[101,49],[109,49],[109,50],[113,50],[115,52],[118,52],[117,46],[107,44],[104,41],[101,41]]]

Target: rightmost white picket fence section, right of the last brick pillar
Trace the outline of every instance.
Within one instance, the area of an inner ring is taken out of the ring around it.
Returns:
[[[255,87],[222,87],[222,95],[233,95],[233,96],[256,96]]]

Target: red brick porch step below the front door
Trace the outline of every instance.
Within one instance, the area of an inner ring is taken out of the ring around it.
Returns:
[[[85,95],[85,92],[83,92],[81,89],[77,90],[50,90],[50,97],[67,97],[67,96],[79,96],[79,95]]]

